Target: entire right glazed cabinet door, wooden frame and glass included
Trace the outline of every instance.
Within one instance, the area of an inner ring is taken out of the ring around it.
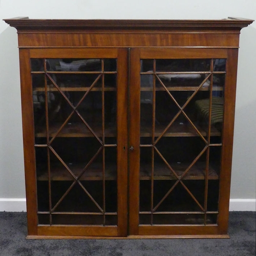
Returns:
[[[225,49],[131,51],[131,235],[227,228],[236,58]]]

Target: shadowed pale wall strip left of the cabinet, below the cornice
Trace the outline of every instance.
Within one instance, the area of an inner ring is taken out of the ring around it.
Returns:
[[[0,34],[0,198],[25,198],[17,31]]]

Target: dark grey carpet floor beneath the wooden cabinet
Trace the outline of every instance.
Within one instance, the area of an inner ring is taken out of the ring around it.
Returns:
[[[255,212],[233,211],[230,239],[28,240],[25,212],[0,212],[1,256],[255,256]]]

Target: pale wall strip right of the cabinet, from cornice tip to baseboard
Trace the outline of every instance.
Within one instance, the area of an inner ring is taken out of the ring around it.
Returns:
[[[231,177],[232,199],[255,198],[256,21],[240,37]]]

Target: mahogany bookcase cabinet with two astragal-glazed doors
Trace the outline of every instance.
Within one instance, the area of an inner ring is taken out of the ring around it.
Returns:
[[[225,238],[239,34],[253,20],[5,20],[28,238]]]

